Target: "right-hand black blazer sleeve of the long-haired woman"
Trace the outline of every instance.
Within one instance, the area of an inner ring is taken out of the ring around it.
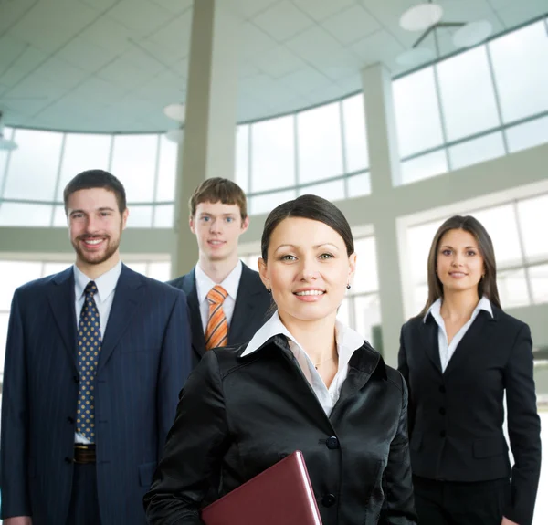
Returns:
[[[511,501],[504,516],[520,525],[530,525],[541,470],[541,423],[532,375],[531,331],[527,325],[523,325],[513,344],[504,380],[514,457]]]

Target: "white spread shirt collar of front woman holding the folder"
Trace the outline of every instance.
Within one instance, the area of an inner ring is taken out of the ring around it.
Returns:
[[[364,346],[364,338],[357,331],[353,331],[352,328],[342,324],[339,320],[335,323],[335,334],[337,351],[339,352],[339,363],[348,363],[353,352]],[[298,345],[300,350],[304,352],[299,341],[291,335],[290,331],[281,322],[279,313],[276,311],[274,315],[258,329],[251,341],[248,342],[248,346],[241,357],[256,352],[266,341],[269,341],[269,339],[275,335],[285,335],[289,341]]]

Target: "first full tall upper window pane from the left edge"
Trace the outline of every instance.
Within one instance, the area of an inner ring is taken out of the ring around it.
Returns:
[[[19,147],[11,153],[4,198],[52,202],[63,134],[16,130],[14,140]]]

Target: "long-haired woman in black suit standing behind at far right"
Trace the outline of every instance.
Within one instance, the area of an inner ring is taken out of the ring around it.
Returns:
[[[403,326],[398,362],[421,525],[531,525],[541,465],[531,331],[501,310],[490,236],[474,217],[437,230],[427,304]]]

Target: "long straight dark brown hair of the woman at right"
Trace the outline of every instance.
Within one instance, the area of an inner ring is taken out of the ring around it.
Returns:
[[[443,285],[437,277],[437,252],[439,250],[439,242],[449,230],[464,230],[474,236],[478,242],[478,248],[483,257],[484,276],[478,283],[479,297],[486,297],[497,308],[501,308],[501,300],[499,299],[499,289],[497,289],[497,263],[495,261],[495,250],[493,243],[487,230],[479,222],[478,219],[471,215],[461,216],[455,215],[443,223],[437,229],[436,235],[432,240],[430,253],[428,254],[428,299],[425,308],[418,314],[419,317],[427,315],[428,309],[440,297],[443,298]]]

